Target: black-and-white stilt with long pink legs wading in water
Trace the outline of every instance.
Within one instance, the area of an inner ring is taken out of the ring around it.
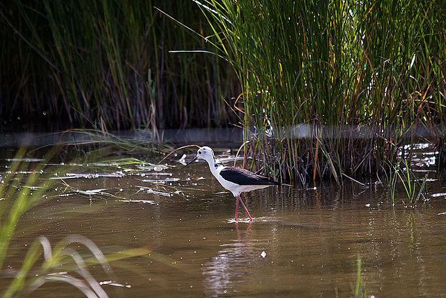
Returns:
[[[246,214],[249,217],[249,220],[252,221],[252,217],[249,215],[248,209],[243,203],[242,198],[240,198],[240,193],[245,191],[254,191],[255,189],[266,188],[273,185],[287,185],[273,181],[267,177],[254,174],[253,172],[249,172],[241,167],[226,167],[221,163],[217,163],[217,161],[215,161],[214,151],[207,146],[199,148],[197,151],[197,156],[195,156],[192,161],[187,163],[187,165],[190,165],[197,159],[207,161],[210,172],[212,172],[214,177],[217,178],[224,188],[231,191],[234,197],[236,197],[236,217],[234,218],[236,221],[238,214],[238,202],[242,204],[243,209],[245,209]],[[187,165],[185,165],[183,168],[187,167]]]

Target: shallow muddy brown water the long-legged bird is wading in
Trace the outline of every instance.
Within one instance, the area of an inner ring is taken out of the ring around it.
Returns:
[[[431,170],[427,164],[419,170]],[[433,172],[429,200],[415,209],[403,208],[401,185],[392,206],[387,186],[377,179],[362,181],[369,188],[353,181],[342,188],[279,186],[243,195],[254,223],[242,208],[236,223],[236,201],[206,163],[179,168],[171,161],[137,174],[67,176],[53,197],[22,217],[0,288],[11,282],[8,271],[20,269],[36,237],[44,235],[54,246],[80,234],[106,255],[138,248],[131,258],[110,257],[112,273],[89,267],[97,281],[117,283],[102,285],[112,297],[351,297],[358,257],[367,296],[446,295],[446,184]],[[54,295],[82,293],[52,282],[31,294]]]

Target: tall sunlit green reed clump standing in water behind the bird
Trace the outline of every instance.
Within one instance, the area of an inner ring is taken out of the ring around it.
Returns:
[[[371,174],[445,114],[445,18],[436,3],[196,1],[243,88],[251,167],[298,179]],[[309,137],[289,130],[308,124]],[[373,128],[340,137],[339,128]],[[253,131],[251,128],[255,128]],[[321,137],[324,130],[328,135]],[[280,136],[280,137],[278,137]]]

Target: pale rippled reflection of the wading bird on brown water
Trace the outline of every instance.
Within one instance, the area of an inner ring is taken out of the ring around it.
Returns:
[[[246,230],[240,231],[236,223],[237,239],[231,243],[222,244],[217,256],[203,267],[203,288],[206,296],[233,294],[237,285],[243,283],[249,276],[254,264],[253,258],[259,258],[256,241],[249,239],[252,222],[249,221]]]

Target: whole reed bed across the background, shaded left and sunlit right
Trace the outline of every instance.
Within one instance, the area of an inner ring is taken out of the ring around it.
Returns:
[[[438,140],[445,7],[443,0],[3,3],[1,118],[45,114],[102,131],[240,122],[247,167],[304,184],[340,183],[343,174],[396,163],[405,142]]]

